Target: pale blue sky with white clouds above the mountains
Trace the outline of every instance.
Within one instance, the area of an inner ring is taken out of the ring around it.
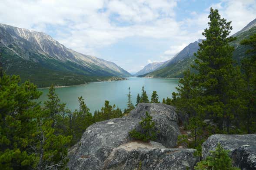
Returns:
[[[135,73],[203,39],[210,7],[232,21],[231,34],[256,18],[256,0],[0,0],[0,23]]]

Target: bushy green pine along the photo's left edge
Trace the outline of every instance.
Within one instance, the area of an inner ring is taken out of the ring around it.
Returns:
[[[30,154],[36,114],[41,95],[30,82],[20,85],[20,77],[0,77],[0,169],[18,170],[35,167],[37,157]]]

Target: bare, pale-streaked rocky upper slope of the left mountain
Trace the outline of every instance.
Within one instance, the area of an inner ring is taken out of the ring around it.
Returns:
[[[90,76],[130,76],[115,63],[66,48],[45,33],[0,24],[0,37],[10,54],[47,69]]]

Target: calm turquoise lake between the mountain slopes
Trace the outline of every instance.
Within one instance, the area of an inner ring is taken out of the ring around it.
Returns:
[[[149,99],[152,92],[156,90],[162,102],[163,98],[171,98],[172,92],[176,92],[175,87],[178,85],[178,81],[178,79],[130,77],[123,81],[93,82],[87,85],[56,88],[55,92],[58,94],[60,101],[66,103],[71,111],[78,108],[77,98],[83,96],[87,107],[93,113],[94,110],[100,110],[104,106],[105,100],[110,101],[110,105],[115,104],[122,110],[126,108],[129,87],[134,105],[136,104],[137,94],[141,93],[143,85]],[[39,99],[42,103],[47,100],[48,90],[47,88],[39,89],[43,92]]]

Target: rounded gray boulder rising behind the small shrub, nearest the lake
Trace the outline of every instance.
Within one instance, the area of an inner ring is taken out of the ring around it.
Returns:
[[[161,103],[139,103],[135,109],[125,116],[126,118],[142,119],[150,113],[155,122],[156,129],[160,131],[157,136],[157,142],[165,147],[176,147],[177,138],[180,135],[178,126],[178,115],[175,108]]]

